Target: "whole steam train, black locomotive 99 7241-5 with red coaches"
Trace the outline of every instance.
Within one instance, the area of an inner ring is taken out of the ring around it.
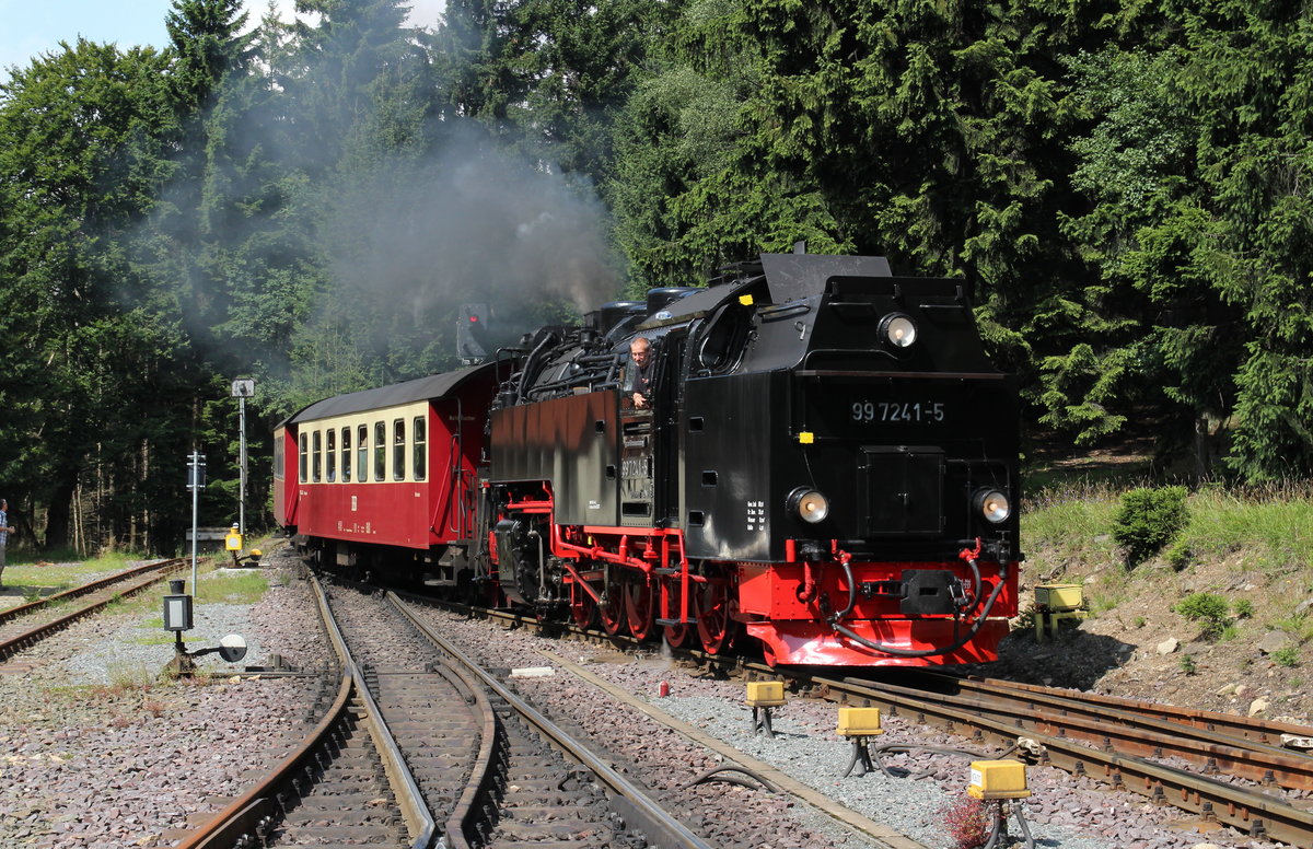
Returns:
[[[630,342],[650,342],[635,407]],[[1018,391],[964,283],[763,255],[276,430],[326,567],[769,663],[997,657],[1016,614]]]

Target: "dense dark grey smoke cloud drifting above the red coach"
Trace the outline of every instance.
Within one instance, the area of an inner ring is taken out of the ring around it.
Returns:
[[[584,312],[612,299],[620,283],[591,186],[481,142],[466,134],[429,164],[386,169],[335,198],[343,286],[425,314],[545,299]]]

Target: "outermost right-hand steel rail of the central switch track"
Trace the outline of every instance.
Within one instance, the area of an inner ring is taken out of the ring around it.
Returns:
[[[477,676],[488,690],[499,699],[508,703],[517,714],[528,720],[545,737],[571,757],[587,766],[597,779],[607,786],[614,804],[625,821],[642,828],[647,836],[647,842],[659,849],[710,849],[710,844],[688,829],[687,825],[675,819],[670,812],[653,802],[646,793],[639,790],[633,782],[621,776],[609,764],[593,755],[587,747],[566,734],[559,726],[549,720],[537,709],[523,698],[502,686],[500,681],[484,672],[477,663],[465,655],[460,648],[439,635],[433,627],[419,617],[410,604],[403,601],[397,593],[389,592],[387,600],[403,613],[415,627],[419,629],[433,644],[454,657],[474,676]]]

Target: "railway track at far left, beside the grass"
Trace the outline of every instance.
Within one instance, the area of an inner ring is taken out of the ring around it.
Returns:
[[[188,563],[190,560],[175,558],[138,566],[47,598],[0,611],[0,660],[8,660],[16,653],[32,648],[55,631],[97,613],[117,598],[134,596],[154,587]],[[71,601],[79,601],[79,604],[67,609]]]

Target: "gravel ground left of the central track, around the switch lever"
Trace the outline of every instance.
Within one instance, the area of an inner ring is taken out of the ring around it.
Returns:
[[[318,629],[305,627],[307,587],[264,572],[273,587],[260,604],[197,606],[189,648],[239,632],[251,652],[238,668],[274,652],[323,668]],[[221,810],[305,735],[316,678],[160,684],[173,646],[158,642],[158,613],[96,617],[0,674],[0,848],[172,845],[161,836]],[[230,668],[217,655],[201,660]]]

